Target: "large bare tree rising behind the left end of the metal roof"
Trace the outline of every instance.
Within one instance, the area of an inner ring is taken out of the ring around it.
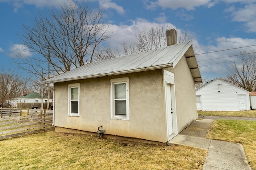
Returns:
[[[39,15],[33,25],[23,25],[23,44],[39,54],[25,57],[20,53],[16,63],[37,78],[46,79],[50,63],[52,74],[61,74],[93,61],[98,45],[110,37],[109,25],[102,21],[104,12],[90,10],[87,2],[66,4],[50,15]]]

